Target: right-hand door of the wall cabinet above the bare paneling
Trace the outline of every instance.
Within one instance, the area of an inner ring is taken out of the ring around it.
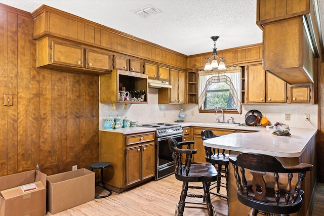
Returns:
[[[86,68],[94,70],[109,71],[111,67],[111,55],[109,53],[87,50]]]

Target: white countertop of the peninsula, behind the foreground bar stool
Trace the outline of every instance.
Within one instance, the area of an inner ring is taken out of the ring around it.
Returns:
[[[204,146],[268,154],[275,157],[299,157],[317,129],[291,128],[291,136],[276,136],[273,129],[256,133],[233,133],[204,141]]]

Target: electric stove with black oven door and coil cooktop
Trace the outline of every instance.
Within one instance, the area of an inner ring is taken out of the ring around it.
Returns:
[[[182,141],[182,127],[180,124],[152,123],[141,124],[141,127],[154,127],[155,133],[155,180],[162,179],[174,173],[175,166],[169,148],[168,138],[174,137],[177,142]]]

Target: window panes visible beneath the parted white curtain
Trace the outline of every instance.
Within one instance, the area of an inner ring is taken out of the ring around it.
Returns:
[[[206,91],[205,110],[222,108],[236,110],[233,97],[229,92],[230,86],[225,82],[213,83]]]

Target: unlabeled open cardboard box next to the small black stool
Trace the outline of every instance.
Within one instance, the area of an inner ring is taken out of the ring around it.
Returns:
[[[48,176],[48,210],[55,214],[94,200],[95,179],[95,172],[86,168]]]

